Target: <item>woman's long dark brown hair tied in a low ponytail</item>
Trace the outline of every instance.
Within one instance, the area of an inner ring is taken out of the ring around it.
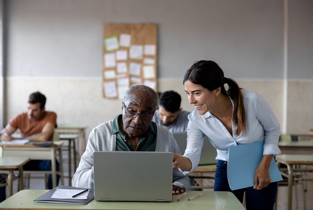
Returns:
[[[199,60],[186,71],[183,84],[190,81],[193,84],[213,91],[221,87],[221,93],[225,96],[229,95],[234,101],[233,122],[237,127],[235,134],[246,134],[246,114],[244,111],[244,101],[237,82],[231,78],[224,77],[223,70],[212,60]],[[228,93],[224,84],[228,84]]]

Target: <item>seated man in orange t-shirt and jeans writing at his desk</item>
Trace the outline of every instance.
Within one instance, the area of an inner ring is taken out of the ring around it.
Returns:
[[[9,120],[8,125],[2,130],[2,141],[11,141],[16,139],[11,136],[17,129],[20,130],[21,139],[29,141],[44,142],[52,141],[54,128],[57,127],[57,115],[54,112],[45,110],[46,97],[40,92],[32,93],[27,102],[27,112],[21,113]],[[57,163],[57,169],[59,165]],[[31,160],[23,167],[30,171],[51,171],[50,160]],[[57,178],[59,182],[59,177]],[[48,188],[52,189],[52,177],[49,175]],[[3,189],[0,188],[0,191]],[[5,188],[4,188],[5,190]],[[0,202],[2,196],[0,192]]]

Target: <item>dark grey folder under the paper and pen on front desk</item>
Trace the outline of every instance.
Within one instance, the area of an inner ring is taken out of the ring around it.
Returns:
[[[44,193],[43,195],[39,196],[38,198],[34,199],[37,202],[44,202],[44,203],[68,203],[68,204],[82,204],[85,205],[89,203],[92,199],[94,199],[94,189],[89,189],[87,199],[56,199],[51,198],[56,188],[59,189],[71,189],[71,190],[85,190],[87,188],[80,188],[80,187],[70,187],[70,186],[57,186],[48,192]]]

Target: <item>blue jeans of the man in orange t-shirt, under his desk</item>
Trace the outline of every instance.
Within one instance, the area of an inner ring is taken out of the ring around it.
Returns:
[[[56,160],[56,169],[59,171],[59,162]],[[23,166],[24,171],[51,171],[51,160],[30,160]],[[57,175],[57,185],[59,183],[60,176]],[[52,189],[52,175],[48,176],[48,189]]]

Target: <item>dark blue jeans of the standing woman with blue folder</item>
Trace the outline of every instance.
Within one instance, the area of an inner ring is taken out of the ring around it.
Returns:
[[[247,187],[239,190],[231,190],[227,179],[227,161],[218,160],[214,179],[214,191],[232,192],[242,203],[246,192],[247,210],[272,210],[276,200],[277,182],[271,182],[262,190]]]

